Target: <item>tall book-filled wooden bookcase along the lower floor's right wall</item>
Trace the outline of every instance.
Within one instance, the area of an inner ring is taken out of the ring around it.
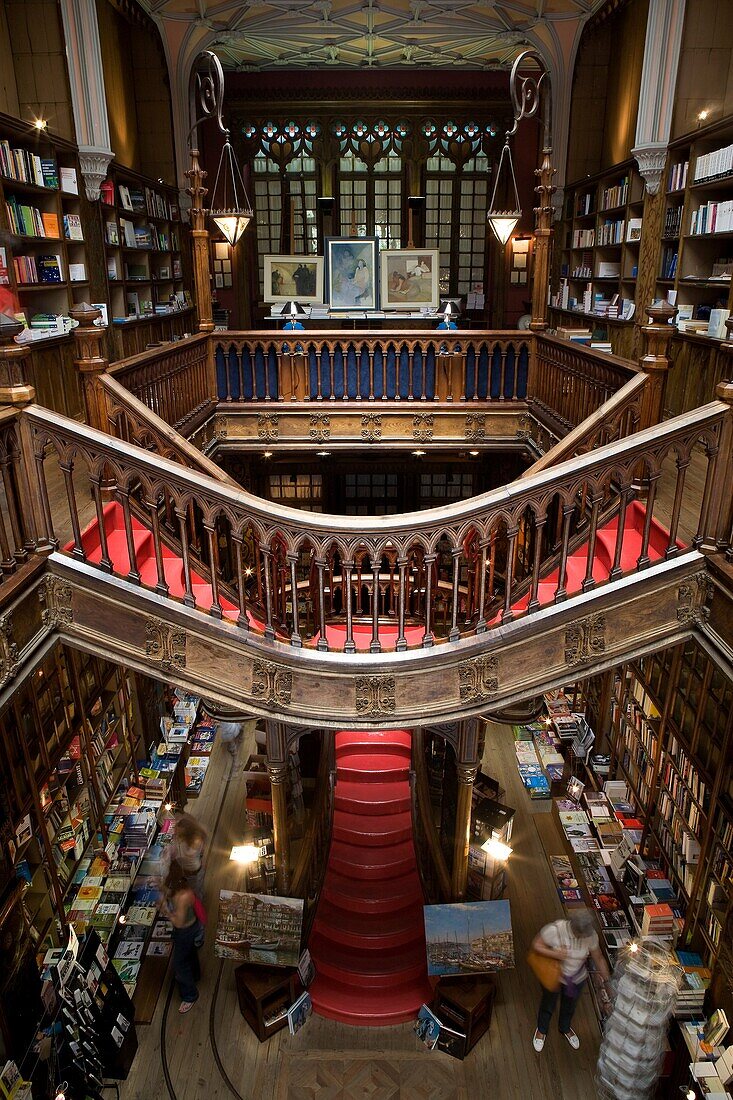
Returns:
[[[733,903],[733,682],[694,641],[617,670],[612,774],[687,906],[686,938],[713,965]],[[714,901],[711,901],[714,899]]]

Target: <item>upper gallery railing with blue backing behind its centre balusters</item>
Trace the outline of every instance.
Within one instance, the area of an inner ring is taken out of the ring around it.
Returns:
[[[625,360],[533,332],[215,332],[109,369],[188,435],[218,400],[529,402],[565,433],[637,372]]]

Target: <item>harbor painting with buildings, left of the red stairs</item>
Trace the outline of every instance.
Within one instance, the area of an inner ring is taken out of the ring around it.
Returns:
[[[303,899],[219,891],[215,954],[262,966],[297,966]]]

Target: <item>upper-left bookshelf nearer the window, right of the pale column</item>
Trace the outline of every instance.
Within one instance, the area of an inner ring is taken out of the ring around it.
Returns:
[[[111,358],[190,331],[176,188],[113,163],[101,187],[100,218]]]

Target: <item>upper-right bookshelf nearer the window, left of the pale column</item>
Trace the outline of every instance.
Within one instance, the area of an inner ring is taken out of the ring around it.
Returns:
[[[633,161],[567,187],[550,307],[555,324],[592,320],[612,339],[631,322],[623,304],[628,310],[635,299],[643,211],[644,182]]]

